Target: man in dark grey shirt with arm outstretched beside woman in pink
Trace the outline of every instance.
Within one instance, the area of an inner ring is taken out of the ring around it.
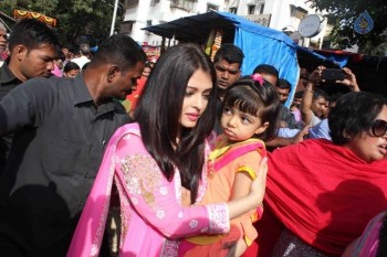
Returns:
[[[15,132],[0,180],[1,253],[65,256],[104,147],[129,121],[113,98],[132,92],[145,61],[113,35],[77,77],[29,79],[0,101],[0,135]]]

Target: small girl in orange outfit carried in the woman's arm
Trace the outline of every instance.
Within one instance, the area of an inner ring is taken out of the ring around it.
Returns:
[[[259,163],[265,157],[265,140],[276,133],[279,98],[272,85],[254,74],[234,83],[223,101],[216,149],[208,163],[208,186],[200,204],[242,197],[249,193]],[[252,223],[262,206],[231,221],[227,235],[195,236],[180,245],[179,256],[241,256],[258,236]]]

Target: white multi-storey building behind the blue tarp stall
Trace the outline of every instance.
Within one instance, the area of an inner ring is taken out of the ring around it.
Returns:
[[[142,44],[160,45],[161,38],[142,30],[181,17],[211,10],[232,12],[261,25],[283,31],[303,46],[321,49],[324,35],[330,31],[321,18],[321,32],[308,39],[299,33],[300,22],[315,13],[305,0],[125,0],[125,18],[119,33],[128,34]],[[176,44],[174,40],[171,44]],[[326,44],[326,42],[325,42]]]

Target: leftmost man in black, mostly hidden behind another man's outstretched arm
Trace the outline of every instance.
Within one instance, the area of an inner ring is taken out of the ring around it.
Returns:
[[[27,79],[51,76],[59,50],[57,45],[56,35],[43,22],[35,19],[24,19],[18,22],[12,28],[8,40],[11,55],[0,67],[0,100]],[[0,138],[0,176],[12,137],[12,135],[7,135]]]

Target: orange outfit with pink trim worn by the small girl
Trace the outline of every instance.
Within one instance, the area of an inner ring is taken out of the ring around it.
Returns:
[[[265,148],[264,143],[259,139],[227,144],[226,138],[220,136],[217,140],[216,149],[210,153],[208,185],[200,204],[229,201],[236,173],[243,171],[251,179],[254,179],[262,156],[265,156]],[[190,246],[187,246],[189,250],[182,253],[184,256],[227,256],[228,250],[222,249],[223,244],[236,242],[241,237],[250,246],[258,237],[252,223],[260,218],[262,212],[263,208],[261,206],[231,219],[230,233],[224,236],[201,235],[186,238],[189,243],[182,244],[190,244]]]

